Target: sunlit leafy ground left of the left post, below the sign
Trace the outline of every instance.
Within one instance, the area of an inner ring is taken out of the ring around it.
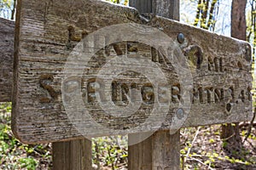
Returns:
[[[36,169],[39,160],[50,162],[47,145],[21,144],[11,132],[11,103],[0,103],[0,169]],[[41,148],[41,150],[40,150]]]

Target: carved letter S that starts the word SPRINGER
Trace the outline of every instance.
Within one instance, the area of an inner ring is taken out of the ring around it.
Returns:
[[[55,89],[52,88],[49,84],[53,82],[54,77],[52,75],[42,75],[40,78],[40,87],[44,88],[50,97],[43,97],[40,99],[41,103],[49,103],[52,99],[57,99],[57,93]]]

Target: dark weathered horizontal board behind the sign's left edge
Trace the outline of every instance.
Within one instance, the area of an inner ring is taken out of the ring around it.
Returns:
[[[10,102],[13,86],[15,22],[0,18],[0,102]]]

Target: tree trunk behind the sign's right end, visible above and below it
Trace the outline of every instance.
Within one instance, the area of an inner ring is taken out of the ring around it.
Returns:
[[[231,10],[231,37],[235,37],[241,40],[246,40],[246,18],[245,8],[247,0],[233,0]],[[230,146],[241,146],[241,137],[239,133],[238,123],[222,125],[221,138],[228,148]],[[232,147],[232,148],[233,148]]]

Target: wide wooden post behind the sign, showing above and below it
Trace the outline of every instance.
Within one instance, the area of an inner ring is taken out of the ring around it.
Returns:
[[[129,3],[140,13],[153,12],[179,20],[179,0],[130,0]],[[160,130],[139,144],[129,145],[128,150],[129,170],[177,170],[180,167],[179,130],[172,135],[169,130]]]

